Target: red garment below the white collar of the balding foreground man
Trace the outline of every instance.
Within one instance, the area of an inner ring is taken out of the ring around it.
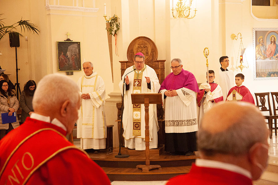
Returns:
[[[202,184],[202,185],[252,185],[252,180],[244,175],[232,171],[197,167],[192,164],[188,174],[178,175],[169,180],[166,185]]]

